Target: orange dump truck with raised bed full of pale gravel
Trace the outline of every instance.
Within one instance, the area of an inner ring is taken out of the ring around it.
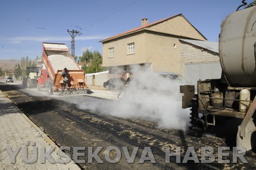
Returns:
[[[42,71],[38,78],[38,90],[48,89],[49,95],[78,95],[87,93],[85,74],[71,56],[64,43],[43,42]],[[61,77],[64,68],[68,70],[68,81]]]

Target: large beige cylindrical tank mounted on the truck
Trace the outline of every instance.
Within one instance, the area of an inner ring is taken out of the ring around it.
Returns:
[[[233,87],[256,87],[256,7],[230,14],[219,42],[220,62]]]

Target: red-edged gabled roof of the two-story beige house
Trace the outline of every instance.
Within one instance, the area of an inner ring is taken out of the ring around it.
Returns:
[[[188,21],[182,14],[177,14],[177,15],[174,15],[172,17],[168,17],[168,18],[164,18],[163,20],[158,20],[158,21],[155,21],[153,23],[149,23],[149,24],[145,24],[143,26],[140,26],[140,27],[136,27],[135,29],[132,29],[132,30],[128,30],[126,32],[123,32],[123,33],[120,33],[120,34],[116,34],[114,36],[111,36],[111,37],[108,37],[104,40],[101,40],[100,42],[105,42],[107,40],[111,40],[111,39],[115,39],[117,37],[121,37],[121,36],[125,36],[127,34],[131,34],[131,33],[135,33],[135,32],[139,32],[141,30],[145,30],[145,29],[148,29],[149,27],[152,27],[152,26],[155,26],[157,24],[160,24],[160,23],[163,23],[164,21],[167,21],[167,20],[171,20],[172,18],[175,18],[175,17],[178,17],[178,16],[181,16],[183,17],[186,21]],[[191,24],[189,21],[188,21],[189,24]],[[198,32],[199,34],[201,34],[192,24],[191,26],[196,30],[196,32]],[[204,37],[202,34],[201,34],[202,37]],[[204,39],[206,39],[204,37]],[[206,39],[207,40],[207,39]]]

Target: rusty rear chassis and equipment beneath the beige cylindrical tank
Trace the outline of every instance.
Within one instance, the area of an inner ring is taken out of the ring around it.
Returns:
[[[180,93],[184,93],[182,108],[191,108],[189,130],[195,131],[196,136],[202,136],[208,127],[217,125],[218,119],[238,118],[242,123],[238,126],[236,146],[245,147],[246,150],[254,148],[256,88],[230,87],[223,79],[199,80],[197,87],[195,94],[195,86],[180,86]],[[216,88],[218,92],[214,92]],[[243,89],[249,90],[249,99],[241,100]],[[245,103],[245,112],[240,111]]]

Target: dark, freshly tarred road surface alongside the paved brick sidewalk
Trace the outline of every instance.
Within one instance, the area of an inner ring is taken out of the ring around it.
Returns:
[[[58,146],[70,147],[65,152],[71,158],[79,160],[79,166],[83,169],[256,168],[254,151],[246,152],[245,159],[248,163],[243,163],[240,159],[238,163],[233,163],[232,150],[226,150],[229,156],[223,156],[223,159],[229,162],[221,163],[217,150],[232,146],[232,142],[222,136],[210,134],[198,138],[181,130],[158,128],[154,121],[115,117],[108,112],[107,106],[118,106],[119,100],[103,99],[104,97],[99,99],[99,94],[98,97],[49,97],[46,92],[22,89],[19,83],[0,83],[0,90]],[[108,92],[101,93],[106,95]],[[111,93],[113,99],[115,93]],[[84,103],[84,106],[80,103]],[[90,107],[92,105],[97,107]],[[140,107],[135,103],[130,106]],[[77,147],[80,155],[77,155]],[[201,159],[202,147],[214,150],[214,162],[204,163]],[[179,148],[180,157],[166,155]],[[197,159],[201,163],[195,163]]]

